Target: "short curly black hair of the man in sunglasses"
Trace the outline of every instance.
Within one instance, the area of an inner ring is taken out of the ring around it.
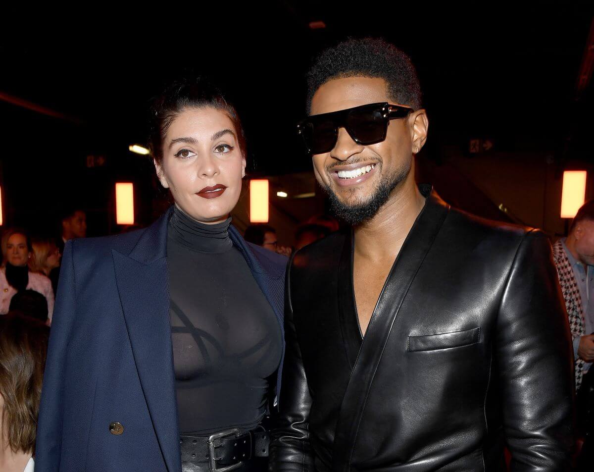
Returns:
[[[421,85],[409,56],[383,39],[347,39],[325,49],[307,74],[307,111],[315,92],[334,78],[383,78],[390,100],[421,108]]]

